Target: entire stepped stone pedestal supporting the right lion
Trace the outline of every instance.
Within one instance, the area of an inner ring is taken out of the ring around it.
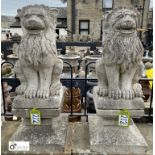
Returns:
[[[101,154],[108,155],[144,155],[147,143],[140,131],[130,121],[129,127],[118,126],[118,112],[128,109],[131,117],[140,117],[144,113],[143,100],[114,100],[100,97],[94,88],[93,99],[97,116],[89,116],[90,148]]]

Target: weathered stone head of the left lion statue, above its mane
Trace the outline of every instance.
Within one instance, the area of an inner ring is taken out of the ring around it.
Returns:
[[[40,32],[53,29],[55,24],[54,11],[42,5],[24,7],[19,12],[21,25],[29,34],[39,34]]]

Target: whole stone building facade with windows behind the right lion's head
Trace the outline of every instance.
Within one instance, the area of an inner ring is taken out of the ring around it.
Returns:
[[[92,40],[100,40],[104,13],[114,8],[129,6],[140,12],[138,27],[147,29],[149,5],[150,0],[67,0],[67,28],[72,37],[89,34]],[[139,35],[145,41],[145,31],[140,31]]]

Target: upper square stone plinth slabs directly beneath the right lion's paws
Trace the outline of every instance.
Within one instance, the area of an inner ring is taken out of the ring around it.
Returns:
[[[144,115],[144,101],[142,98],[132,100],[118,99],[114,100],[107,96],[102,97],[97,93],[98,87],[93,89],[93,99],[98,115],[117,116],[120,109],[128,109],[132,117],[141,117]]]

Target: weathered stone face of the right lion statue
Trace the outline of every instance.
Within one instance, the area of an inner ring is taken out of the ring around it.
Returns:
[[[118,10],[111,14],[109,22],[115,31],[124,34],[134,33],[137,28],[137,14],[128,9]]]

